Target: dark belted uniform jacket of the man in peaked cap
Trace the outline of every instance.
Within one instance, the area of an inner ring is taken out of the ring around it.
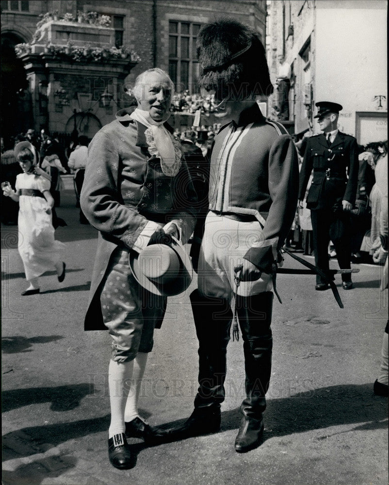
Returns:
[[[309,176],[313,179],[307,195],[308,209],[342,208],[342,200],[355,204],[358,184],[357,140],[338,131],[328,146],[324,134],[308,138],[300,171],[299,199],[303,200]]]

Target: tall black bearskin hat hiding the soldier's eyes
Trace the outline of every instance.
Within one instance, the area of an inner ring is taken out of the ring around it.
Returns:
[[[197,36],[199,87],[214,90],[218,99],[243,99],[273,93],[266,52],[258,34],[223,17],[204,25]]]

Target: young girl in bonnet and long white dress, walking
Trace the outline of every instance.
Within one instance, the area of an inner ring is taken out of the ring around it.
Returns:
[[[17,175],[15,191],[2,186],[3,193],[19,202],[18,250],[23,261],[26,279],[30,283],[23,296],[40,292],[38,276],[55,268],[60,282],[65,278],[62,253],[65,244],[54,239],[51,208],[54,199],[50,195],[50,180],[36,165],[35,148],[30,142],[20,142],[15,157],[23,170]],[[3,185],[3,184],[2,184]]]

